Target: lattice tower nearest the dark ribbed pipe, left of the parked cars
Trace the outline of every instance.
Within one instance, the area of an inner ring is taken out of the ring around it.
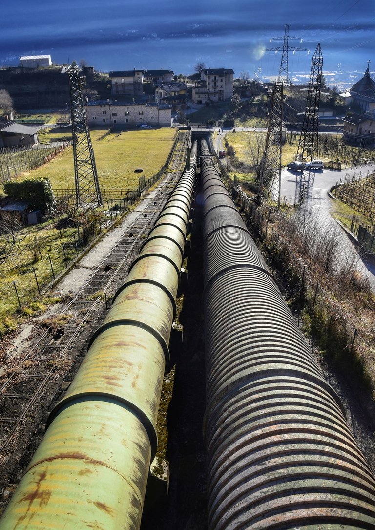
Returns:
[[[281,142],[282,142],[282,98],[283,84],[275,83],[271,98],[271,112],[267,126],[267,136],[264,156],[261,162],[260,180],[258,188],[258,203],[262,197],[277,197],[280,207],[281,195]]]

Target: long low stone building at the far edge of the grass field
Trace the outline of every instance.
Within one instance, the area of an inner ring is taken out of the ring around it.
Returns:
[[[171,127],[172,108],[156,103],[124,103],[92,101],[87,105],[87,121],[91,127],[136,127],[142,123],[155,127]]]

